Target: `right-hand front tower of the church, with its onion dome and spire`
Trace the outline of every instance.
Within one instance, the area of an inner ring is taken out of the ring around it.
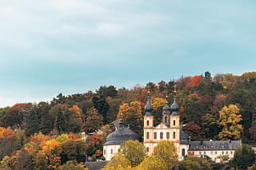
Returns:
[[[173,140],[175,146],[179,150],[179,138],[180,138],[180,129],[179,129],[179,116],[178,116],[178,103],[176,102],[176,87],[174,85],[174,103],[170,106],[172,111],[170,115],[170,131],[171,131],[171,139]],[[178,151],[179,152],[179,151]]]

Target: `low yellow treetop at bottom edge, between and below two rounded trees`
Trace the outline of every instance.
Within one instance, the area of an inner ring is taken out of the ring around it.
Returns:
[[[160,156],[149,156],[135,169],[137,170],[167,170],[165,161]]]

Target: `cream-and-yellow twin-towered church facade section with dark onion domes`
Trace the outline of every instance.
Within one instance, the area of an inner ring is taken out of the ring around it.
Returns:
[[[154,127],[154,117],[152,116],[153,107],[150,105],[150,96],[148,95],[145,106],[144,116],[144,145],[146,151],[152,154],[154,147],[161,140],[171,140],[177,148],[179,160],[188,154],[190,148],[190,136],[188,136],[180,126],[180,117],[178,116],[178,103],[176,102],[176,90],[174,91],[174,103],[163,107],[162,122]],[[172,113],[171,113],[172,112]]]

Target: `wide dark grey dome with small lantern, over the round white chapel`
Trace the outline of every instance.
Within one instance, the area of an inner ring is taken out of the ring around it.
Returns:
[[[141,136],[137,133],[130,130],[130,128],[124,128],[122,117],[119,121],[119,128],[111,132],[106,137],[106,143],[104,145],[111,145],[111,144],[122,144],[122,142],[126,140],[140,140]]]

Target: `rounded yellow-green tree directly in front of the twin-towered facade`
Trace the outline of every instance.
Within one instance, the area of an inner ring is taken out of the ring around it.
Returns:
[[[154,156],[160,156],[165,161],[167,168],[172,169],[178,162],[177,148],[170,140],[162,140],[154,147]]]

